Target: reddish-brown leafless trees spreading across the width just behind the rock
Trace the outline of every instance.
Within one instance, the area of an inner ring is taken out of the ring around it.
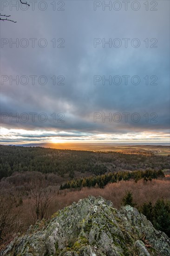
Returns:
[[[10,242],[14,236],[18,233],[22,234],[26,232],[27,228],[36,222],[35,213],[33,214],[33,207],[35,206],[35,197],[32,194],[33,183],[26,186],[27,191],[16,190],[13,188],[14,199],[12,202],[9,200],[9,191],[11,187],[6,187],[6,193],[3,194],[4,209],[6,208],[9,225],[5,226],[5,232],[1,234],[1,246]],[[44,186],[44,180],[42,181]],[[153,204],[157,199],[169,199],[170,200],[170,178],[166,176],[162,179],[152,180],[144,182],[140,180],[135,182],[120,181],[117,183],[109,183],[104,189],[98,187],[95,188],[82,188],[81,190],[61,190],[59,191],[55,186],[46,187],[47,191],[51,191],[50,197],[47,193],[46,218],[50,218],[53,213],[59,209],[63,209],[65,206],[72,204],[72,202],[78,202],[79,199],[83,199],[88,195],[98,196],[101,195],[107,200],[113,202],[114,208],[121,207],[121,201],[127,191],[131,190],[133,194],[133,200],[137,206],[142,205],[144,202],[151,201]],[[49,189],[49,190],[48,190]],[[2,191],[2,190],[1,190]],[[34,191],[35,192],[35,191]],[[44,196],[44,194],[42,194]],[[44,198],[44,197],[43,197]],[[45,197],[46,198],[46,197]],[[43,201],[44,202],[44,201]],[[43,205],[43,204],[42,204]],[[3,207],[2,207],[3,208]]]

